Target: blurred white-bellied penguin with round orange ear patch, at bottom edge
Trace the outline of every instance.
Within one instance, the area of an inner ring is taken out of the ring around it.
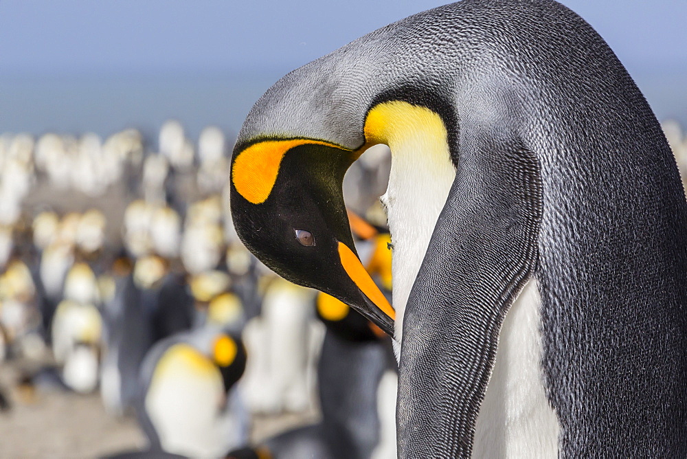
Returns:
[[[235,386],[245,363],[240,339],[218,328],[156,344],[141,368],[137,404],[150,450],[212,458],[245,443],[248,418]]]

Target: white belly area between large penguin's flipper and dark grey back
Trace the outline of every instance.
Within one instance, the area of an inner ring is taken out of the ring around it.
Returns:
[[[475,427],[474,458],[556,458],[559,424],[543,388],[534,279],[510,307]]]

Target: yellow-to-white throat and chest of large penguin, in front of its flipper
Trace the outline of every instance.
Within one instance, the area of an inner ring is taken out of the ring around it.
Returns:
[[[365,139],[387,144],[392,152],[389,185],[381,201],[387,209],[394,247],[394,350],[398,359],[405,304],[455,179],[455,168],[444,123],[425,107],[400,101],[377,105],[368,113]]]

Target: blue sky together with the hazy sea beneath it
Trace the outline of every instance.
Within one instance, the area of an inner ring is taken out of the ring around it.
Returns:
[[[0,132],[236,132],[282,74],[437,0],[0,0]],[[564,0],[687,123],[687,1]]]

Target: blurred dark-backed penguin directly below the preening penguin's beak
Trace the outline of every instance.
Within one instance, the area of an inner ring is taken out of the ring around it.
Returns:
[[[322,421],[265,440],[229,458],[396,457],[396,363],[389,339],[339,300],[319,293],[326,334],[317,365]]]

